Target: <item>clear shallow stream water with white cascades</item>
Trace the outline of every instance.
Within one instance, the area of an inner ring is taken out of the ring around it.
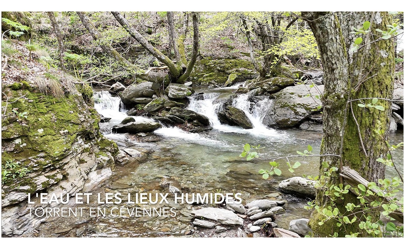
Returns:
[[[198,134],[188,133],[177,127],[163,127],[154,132],[161,137],[157,142],[139,142],[130,135],[111,133],[111,127],[127,117],[125,114],[127,110],[120,108],[119,97],[111,97],[108,91],[96,93],[96,110],[104,117],[111,118],[109,122],[100,123],[104,136],[116,141],[121,148],[134,148],[149,154],[146,161],[132,161],[118,166],[113,177],[102,184],[98,191],[166,193],[167,189],[160,186],[159,182],[163,176],[168,176],[179,182],[183,192],[240,192],[243,203],[274,197],[288,200],[285,206],[287,213],[276,216],[275,222],[281,228],[288,229],[292,219],[308,218],[310,213],[303,208],[308,200],[281,193],[277,189],[277,184],[293,176],[317,175],[319,158],[309,157],[300,160],[301,167],[294,173],[288,171],[284,160],[278,160],[283,174],[263,180],[258,171],[270,170],[269,160],[246,161],[240,158],[239,154],[245,143],[265,147],[260,150],[260,158],[294,155],[297,150],[305,150],[308,144],[313,147],[313,153],[319,153],[322,133],[299,129],[275,130],[266,127],[262,120],[272,107],[273,100],[265,98],[253,104],[246,94],[235,98],[232,105],[245,112],[254,128],[242,129],[223,125],[217,118],[217,112],[224,108],[223,103],[233,90],[234,87],[200,89],[197,92],[203,92],[203,100],[197,100],[198,93],[190,97],[188,109],[207,116],[213,127],[211,131]],[[140,116],[134,118],[151,120]],[[399,143],[403,141],[403,133],[395,133],[390,139],[391,143]],[[399,170],[403,172],[403,150],[395,151],[394,158]],[[394,169],[387,169],[387,176],[395,174]],[[190,225],[188,213],[195,206],[171,203],[169,207],[176,207],[179,211],[175,218],[104,217],[92,222],[98,227],[98,236],[100,232],[107,236],[161,236],[180,235],[189,231],[193,226]]]

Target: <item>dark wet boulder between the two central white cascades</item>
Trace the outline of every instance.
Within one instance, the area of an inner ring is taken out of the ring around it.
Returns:
[[[253,124],[250,122],[245,112],[234,106],[227,106],[225,110],[218,112],[217,116],[221,123],[237,125],[244,129],[253,128]]]

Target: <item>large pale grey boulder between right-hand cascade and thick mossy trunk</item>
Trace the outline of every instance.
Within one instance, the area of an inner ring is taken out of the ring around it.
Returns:
[[[269,125],[278,128],[297,127],[311,114],[319,112],[317,107],[321,105],[321,101],[315,98],[315,95],[319,95],[317,89],[323,93],[324,86],[310,88],[305,84],[300,84],[286,87],[271,95],[275,101],[268,114]],[[312,97],[308,96],[309,92]]]

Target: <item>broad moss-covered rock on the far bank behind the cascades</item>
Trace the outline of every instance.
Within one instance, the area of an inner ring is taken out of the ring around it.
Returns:
[[[256,78],[258,73],[248,59],[213,59],[198,60],[189,79],[198,85],[208,85],[214,81],[224,85],[230,74],[236,74],[234,82]]]

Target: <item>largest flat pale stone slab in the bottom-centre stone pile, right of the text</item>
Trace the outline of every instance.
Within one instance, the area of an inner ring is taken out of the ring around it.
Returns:
[[[241,217],[236,215],[234,212],[226,209],[206,207],[203,209],[193,210],[190,214],[194,217],[212,219],[224,225],[243,225],[243,219]]]

